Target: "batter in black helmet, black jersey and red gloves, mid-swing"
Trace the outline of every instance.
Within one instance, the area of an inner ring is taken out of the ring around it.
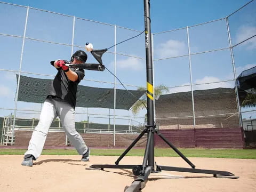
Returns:
[[[85,63],[87,54],[84,51],[76,51],[71,57],[71,64]],[[49,95],[47,96],[36,126],[29,141],[28,150],[25,153],[21,165],[33,166],[42,153],[45,139],[52,124],[53,119],[59,116],[63,129],[69,140],[75,146],[81,161],[89,161],[90,148],[85,145],[81,135],[75,130],[75,106],[78,83],[84,78],[84,70],[80,68],[68,67],[64,60],[51,61],[58,73],[55,76]]]

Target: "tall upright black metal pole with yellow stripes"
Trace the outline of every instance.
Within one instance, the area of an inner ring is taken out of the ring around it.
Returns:
[[[144,19],[145,19],[145,47],[147,65],[147,123],[149,131],[153,134],[150,139],[148,166],[154,170],[154,86],[153,86],[153,65],[152,65],[152,42],[151,42],[151,20],[150,20],[150,0],[144,0]],[[148,134],[149,135],[149,134]]]

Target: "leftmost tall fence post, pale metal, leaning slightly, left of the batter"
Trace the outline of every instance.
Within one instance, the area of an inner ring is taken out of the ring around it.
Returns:
[[[25,27],[24,27],[24,34],[23,34],[23,41],[22,41],[22,48],[21,48],[21,55],[20,55],[20,69],[19,69],[19,76],[18,76],[17,91],[16,91],[16,95],[15,95],[15,107],[14,107],[14,117],[13,117],[13,125],[12,125],[11,145],[13,145],[13,139],[14,139],[14,127],[15,127],[15,120],[16,120],[16,114],[17,114],[21,65],[22,65],[22,58],[23,58],[23,51],[24,51],[24,44],[25,44],[25,39],[26,39],[26,31],[27,31],[27,23],[28,23],[28,11],[29,11],[29,6],[27,7],[26,22],[25,22]]]

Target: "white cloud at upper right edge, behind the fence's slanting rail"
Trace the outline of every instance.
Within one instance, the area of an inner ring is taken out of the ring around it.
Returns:
[[[256,35],[256,27],[241,26],[237,31],[235,42],[240,43],[253,35]],[[256,49],[256,37],[247,40],[243,45],[246,45],[249,50]]]

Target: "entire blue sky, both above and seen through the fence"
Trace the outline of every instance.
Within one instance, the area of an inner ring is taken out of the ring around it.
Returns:
[[[111,25],[142,31],[143,22],[143,1],[4,1],[17,5],[34,7],[77,18],[84,18]],[[151,31],[161,31],[193,26],[215,19],[225,18],[249,2],[248,0],[215,0],[215,1],[154,1],[151,0]],[[237,12],[229,18],[230,33],[233,44],[239,43],[252,36],[256,32],[255,14],[256,3]],[[26,8],[13,7],[0,4],[0,33],[23,36],[25,25]],[[74,44],[84,46],[85,42],[91,42],[95,49],[103,49],[114,44],[114,27],[102,25],[81,19],[76,19]],[[27,26],[27,37],[53,41],[63,44],[71,44],[72,17],[63,17],[48,12],[41,12],[30,9]],[[139,32],[117,28],[117,42],[138,35]],[[189,28],[190,51],[198,53],[213,49],[228,47],[226,21],[220,20],[207,25]],[[118,53],[133,55],[138,58],[145,58],[143,35],[125,42],[116,47]],[[6,37],[0,35],[0,57],[2,59],[1,69],[18,70],[21,54],[21,38]],[[256,65],[255,61],[255,38],[240,46],[235,47],[234,56],[237,74],[242,70]],[[74,51],[78,49],[74,48]],[[114,48],[109,51],[114,52]],[[187,30],[181,29],[164,34],[154,35],[154,59],[175,57],[188,54]],[[22,61],[22,71],[54,75],[55,70],[48,65],[50,60],[66,59],[71,55],[70,46],[35,42],[26,39],[25,51]],[[146,86],[145,59],[117,55],[117,76],[123,83],[129,85]],[[92,55],[89,55],[88,62],[95,62]],[[114,71],[114,55],[105,53],[103,62]],[[8,63],[8,65],[3,65]],[[191,56],[193,83],[210,83],[227,81],[234,78],[232,73],[230,51],[223,50]],[[14,107],[15,75],[12,72],[0,71],[1,81],[8,82],[0,85],[1,93],[0,107]],[[26,75],[26,74],[23,74]],[[52,78],[51,76],[29,75],[37,78]],[[97,81],[113,82],[114,77],[107,73],[86,71],[87,79]],[[131,78],[132,77],[132,78]],[[188,57],[166,59],[155,61],[155,85],[165,84],[167,86],[188,85],[190,82]],[[82,85],[97,87],[113,87],[112,84],[83,81]],[[216,84],[195,85],[194,89],[211,89],[214,87],[234,87],[233,82]],[[121,86],[117,86],[123,89]],[[134,87],[127,87],[135,89]],[[175,87],[170,92],[189,91],[189,86]],[[4,102],[3,102],[4,101]],[[33,103],[18,103],[18,108],[40,109],[41,105]],[[79,109],[86,111],[86,109]],[[89,109],[90,113],[98,113],[98,109]],[[3,111],[1,112],[3,113]],[[6,115],[6,110],[1,115]],[[108,114],[108,109],[102,109],[102,113]],[[110,114],[113,114],[113,110]],[[118,114],[130,115],[131,112],[118,111]],[[145,111],[139,115],[144,116]],[[83,117],[81,117],[83,118]]]

